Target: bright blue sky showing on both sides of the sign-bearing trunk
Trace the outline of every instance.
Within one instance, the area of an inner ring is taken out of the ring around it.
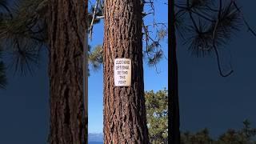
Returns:
[[[156,22],[168,22],[168,7],[163,3],[164,1],[155,2],[155,20]],[[92,2],[94,3],[94,1]],[[146,18],[146,24],[153,22],[152,16]],[[102,44],[103,40],[103,22],[94,26],[93,40],[89,43],[91,46]],[[161,43],[162,49],[168,57],[167,39]],[[144,62],[144,82],[145,90],[162,90],[164,87],[168,88],[168,62],[163,58],[162,62],[158,64],[157,74],[154,67],[149,67]],[[89,78],[89,132],[102,133],[103,132],[103,71],[91,72]]]

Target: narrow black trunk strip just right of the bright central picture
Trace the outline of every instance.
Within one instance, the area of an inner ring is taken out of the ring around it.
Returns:
[[[174,1],[170,3],[170,143],[180,143],[179,106],[178,106],[178,64],[176,57],[177,43],[174,27]]]

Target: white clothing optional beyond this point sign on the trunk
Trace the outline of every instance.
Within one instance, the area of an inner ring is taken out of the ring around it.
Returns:
[[[114,86],[130,86],[131,61],[130,58],[114,59]]]

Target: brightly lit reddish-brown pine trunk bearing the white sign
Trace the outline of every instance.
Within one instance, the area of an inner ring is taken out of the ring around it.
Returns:
[[[138,0],[105,0],[104,143],[149,143]],[[114,58],[131,59],[131,86],[114,86]]]

